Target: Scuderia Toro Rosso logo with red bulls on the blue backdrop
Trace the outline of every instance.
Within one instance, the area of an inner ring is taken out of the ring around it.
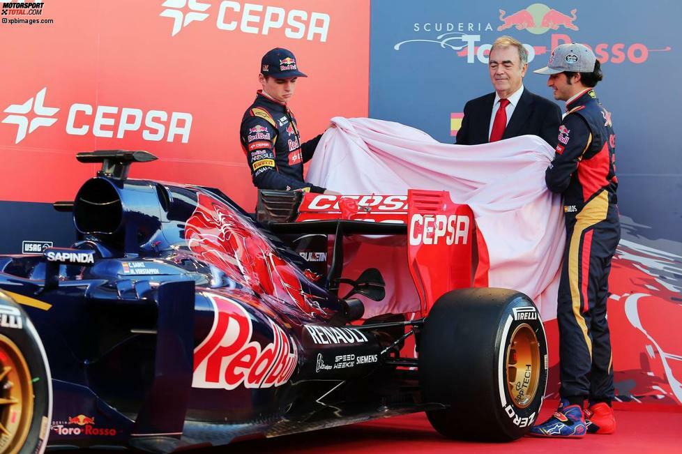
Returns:
[[[528,8],[508,13],[506,10],[499,11],[500,24],[497,31],[505,31],[507,29],[526,30],[534,35],[541,35],[547,31],[561,30],[579,30],[577,25],[578,10],[572,8],[568,11],[555,10],[543,3],[533,3]],[[497,36],[491,37],[490,43],[481,43],[483,40],[480,33],[492,31],[490,23],[485,27],[476,23],[453,23],[453,22],[426,22],[416,23],[413,26],[413,31],[419,33],[421,31],[445,31],[434,36],[432,39],[409,39],[396,43],[393,48],[400,50],[401,47],[407,43],[434,43],[438,44],[444,50],[455,51],[457,56],[464,56],[467,58],[467,63],[488,63],[488,55],[492,48],[492,41]],[[524,47],[528,51],[528,61],[531,62],[537,55],[549,54],[556,46],[564,43],[572,43],[571,39],[565,33],[552,33],[549,46],[533,46],[524,43]],[[596,54],[600,63],[644,63],[649,59],[651,52],[667,52],[670,50],[669,46],[660,49],[649,48],[644,43],[597,43],[591,45],[590,43],[582,43],[590,47]]]

